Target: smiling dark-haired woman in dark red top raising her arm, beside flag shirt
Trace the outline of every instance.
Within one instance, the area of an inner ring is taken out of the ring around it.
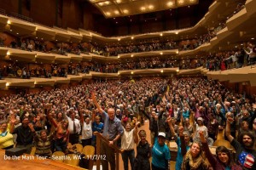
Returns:
[[[218,146],[216,148],[216,157],[212,156],[211,151],[209,150],[209,146],[207,144],[207,139],[204,137],[203,132],[199,132],[201,138],[202,149],[205,152],[205,155],[208,161],[211,163],[213,169],[218,170],[242,170],[242,168],[232,160],[232,155],[230,150],[228,150],[225,146]]]

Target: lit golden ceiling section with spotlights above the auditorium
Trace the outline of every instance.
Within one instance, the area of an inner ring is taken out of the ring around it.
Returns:
[[[105,18],[145,14],[195,5],[198,0],[88,0]]]

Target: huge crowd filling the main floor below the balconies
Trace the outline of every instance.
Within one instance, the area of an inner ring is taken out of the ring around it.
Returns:
[[[254,169],[255,99],[255,94],[236,94],[220,82],[199,77],[91,82],[3,96],[0,146],[15,145],[30,153],[34,145],[36,154],[50,156],[56,150],[68,153],[68,143],[95,145],[97,131],[109,140],[101,145],[107,156],[103,169],[108,162],[115,167],[114,150],[109,147],[115,144],[125,150],[125,169],[128,159],[132,169],[140,169],[150,156],[152,169],[166,169],[171,159],[166,142],[171,140],[177,142],[176,169]],[[150,133],[137,129],[146,119]],[[222,132],[236,149],[235,159],[225,145],[217,147],[216,156],[209,151]],[[146,135],[151,141],[145,140]]]

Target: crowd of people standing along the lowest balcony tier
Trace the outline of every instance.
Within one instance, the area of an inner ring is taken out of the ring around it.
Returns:
[[[20,63],[9,61],[9,65],[0,68],[0,79],[3,77],[67,77],[67,75],[79,75],[79,73],[90,73],[90,71],[103,73],[117,73],[118,71],[144,70],[174,68],[180,70],[195,69],[205,67],[209,71],[225,71],[228,69],[241,68],[253,65],[256,61],[256,45],[253,42],[244,42],[236,46],[232,51],[222,51],[210,53],[206,57],[197,56],[195,59],[175,59],[172,57],[140,57],[137,59],[125,59],[125,62],[107,64],[92,60],[80,64],[70,64],[65,66],[50,65],[47,69],[43,65],[37,64],[27,68]]]

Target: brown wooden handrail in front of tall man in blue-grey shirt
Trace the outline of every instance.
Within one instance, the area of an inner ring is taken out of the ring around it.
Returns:
[[[102,136],[101,133],[98,132],[94,132],[94,134],[96,135],[96,156],[100,156],[101,155],[101,141],[108,144],[109,141],[108,139],[106,139],[105,137]],[[115,150],[115,169],[119,170],[119,153],[122,153],[124,150],[120,150],[115,144],[109,146],[112,147]],[[101,160],[97,159],[96,160],[96,170],[100,170],[101,168]]]

